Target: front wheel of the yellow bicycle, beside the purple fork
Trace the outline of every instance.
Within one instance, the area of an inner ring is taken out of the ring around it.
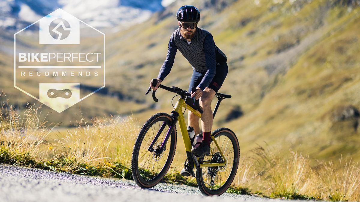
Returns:
[[[170,115],[157,113],[145,122],[136,138],[132,151],[131,171],[136,184],[141,188],[157,185],[170,167],[176,148],[176,127],[170,134],[164,150],[160,148],[172,121]],[[153,150],[148,151],[157,134],[159,135]]]

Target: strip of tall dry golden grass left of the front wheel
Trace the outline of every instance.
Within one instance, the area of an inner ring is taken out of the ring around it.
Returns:
[[[109,166],[112,162],[130,165],[132,146],[140,129],[132,117],[93,118],[88,124],[80,112],[74,123],[76,128],[55,133],[57,125],[47,123],[46,116],[40,119],[41,106],[28,105],[24,115],[20,115],[5,100],[4,93],[0,97],[0,146],[8,151],[0,156],[1,162],[11,160],[26,165],[27,160],[18,159],[26,156],[32,161],[61,162],[58,170],[68,172],[78,170],[80,165]]]

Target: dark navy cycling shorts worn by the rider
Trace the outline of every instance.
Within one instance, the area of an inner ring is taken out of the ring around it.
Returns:
[[[200,84],[205,73],[206,72],[201,73],[196,70],[193,70],[193,75],[191,76],[190,84],[189,84],[189,92],[191,92],[191,87],[193,86],[197,87]],[[227,74],[228,74],[228,64],[222,63],[216,65],[216,74],[207,87],[213,89],[215,92],[219,91],[220,87],[222,86],[222,83],[224,83]]]

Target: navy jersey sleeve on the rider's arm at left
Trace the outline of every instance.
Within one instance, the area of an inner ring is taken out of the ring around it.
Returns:
[[[161,79],[162,81],[164,81],[165,77],[170,73],[172,65],[174,64],[176,51],[177,51],[177,47],[174,42],[174,33],[172,33],[168,44],[166,59],[162,64],[158,75],[158,78]]]

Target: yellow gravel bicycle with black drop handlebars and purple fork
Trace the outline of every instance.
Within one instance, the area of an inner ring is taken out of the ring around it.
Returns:
[[[153,79],[156,86],[157,79]],[[159,85],[180,96],[171,114],[157,113],[151,116],[141,128],[132,151],[132,176],[140,187],[157,185],[168,171],[176,148],[176,123],[179,122],[181,136],[185,144],[187,160],[185,164],[196,168],[196,180],[200,191],[206,196],[221,195],[233,182],[239,165],[239,143],[236,135],[228,128],[218,128],[211,134],[210,154],[196,156],[191,153],[192,144],[185,124],[184,113],[192,111],[201,117],[199,100],[190,98],[190,93],[175,86]],[[148,89],[148,94],[150,88]],[[193,90],[194,91],[194,90]],[[158,101],[153,91],[154,101]],[[218,99],[213,116],[220,102],[230,95],[216,93]],[[184,109],[185,108],[185,109]],[[184,110],[183,110],[184,109]]]

